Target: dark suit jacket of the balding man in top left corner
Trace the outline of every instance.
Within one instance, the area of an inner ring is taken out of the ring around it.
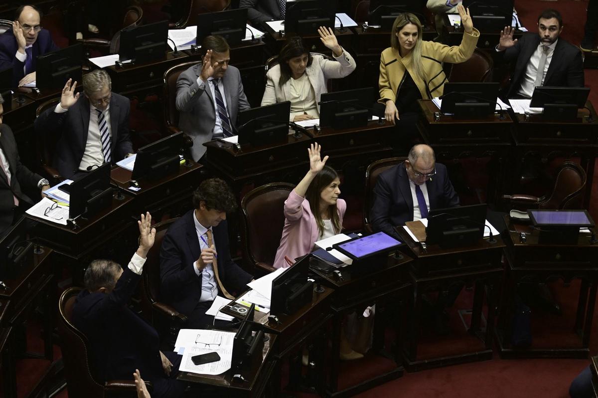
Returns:
[[[0,35],[0,70],[13,68],[14,87],[17,87],[19,81],[25,77],[25,62],[21,62],[15,56],[18,49],[19,45],[17,45],[17,38],[14,37],[13,29]],[[54,44],[50,32],[46,29],[39,31],[38,38],[32,45],[33,71],[35,71],[35,62],[38,55],[56,50],[58,50],[58,47]]]

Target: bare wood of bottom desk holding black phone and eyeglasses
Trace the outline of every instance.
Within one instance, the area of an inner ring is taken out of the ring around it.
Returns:
[[[276,358],[273,358],[274,345],[277,336],[266,333],[268,341],[263,343],[261,351],[256,350],[251,357],[251,363],[243,364],[241,369],[229,369],[221,375],[199,375],[197,373],[181,372],[177,379],[191,382],[191,389],[203,392],[202,387],[215,388],[220,397],[255,397],[269,396],[269,384],[271,375],[277,365]],[[240,373],[245,382],[234,378],[233,375]]]

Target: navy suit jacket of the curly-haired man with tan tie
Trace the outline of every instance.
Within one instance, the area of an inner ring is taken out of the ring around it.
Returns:
[[[202,296],[202,274],[196,275],[193,263],[199,259],[199,245],[193,210],[188,211],[166,232],[160,250],[161,300],[188,315]],[[245,290],[252,276],[236,265],[228,248],[226,220],[212,227],[218,253],[218,275],[229,292]]]

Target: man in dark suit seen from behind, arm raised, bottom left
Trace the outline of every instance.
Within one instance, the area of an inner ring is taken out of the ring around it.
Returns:
[[[89,339],[100,381],[130,379],[139,369],[154,385],[152,397],[181,397],[185,383],[175,380],[181,357],[162,353],[158,333],[127,306],[155,238],[149,212],[138,224],[139,248],[124,271],[110,260],[90,263],[84,276],[86,290],[77,296],[72,320]]]

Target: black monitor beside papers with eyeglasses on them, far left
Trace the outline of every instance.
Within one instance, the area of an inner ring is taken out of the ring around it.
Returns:
[[[110,163],[93,168],[89,173],[71,183],[69,189],[69,218],[87,217],[108,207],[112,202]]]

